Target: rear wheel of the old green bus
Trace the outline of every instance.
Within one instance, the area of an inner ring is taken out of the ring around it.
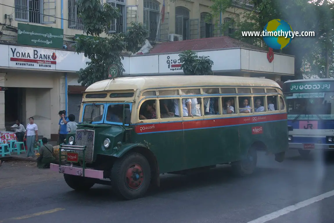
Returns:
[[[250,148],[246,157],[243,160],[232,162],[232,171],[236,176],[244,177],[253,174],[256,163],[258,161],[258,154],[255,148]]]

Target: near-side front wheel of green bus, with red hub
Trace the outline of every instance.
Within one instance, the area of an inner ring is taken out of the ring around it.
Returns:
[[[119,197],[126,200],[140,198],[150,186],[150,164],[140,153],[126,154],[115,161],[110,180],[113,191]]]

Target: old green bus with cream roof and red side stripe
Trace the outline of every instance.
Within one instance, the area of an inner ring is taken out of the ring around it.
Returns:
[[[252,174],[257,150],[282,162],[287,114],[272,80],[226,76],[121,77],[83,94],[79,125],[51,164],[74,190],[112,185],[125,199],[159,186],[163,173],[187,174],[230,164]]]

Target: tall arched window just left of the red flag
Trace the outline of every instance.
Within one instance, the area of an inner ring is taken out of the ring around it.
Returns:
[[[148,37],[150,40],[157,38],[159,18],[159,3],[152,0],[144,1],[144,24],[149,31]]]

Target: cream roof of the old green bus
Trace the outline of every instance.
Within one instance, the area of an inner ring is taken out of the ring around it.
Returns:
[[[121,77],[96,82],[90,85],[86,92],[109,90],[137,90],[169,87],[199,87],[199,86],[249,86],[276,87],[280,85],[270,79],[246,78],[232,76],[144,76]]]

